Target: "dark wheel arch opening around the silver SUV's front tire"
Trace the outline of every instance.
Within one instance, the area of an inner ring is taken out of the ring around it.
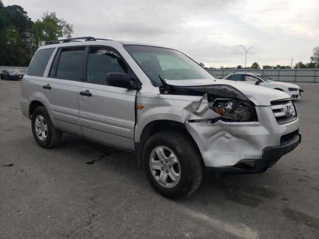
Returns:
[[[165,130],[176,130],[176,131],[184,133],[185,136],[192,141],[194,148],[201,159],[201,163],[204,166],[204,161],[200,153],[199,147],[196,141],[194,140],[194,138],[187,131],[185,125],[181,122],[174,121],[174,120],[159,119],[159,120],[153,120],[149,122],[147,125],[145,125],[140,136],[140,141],[135,142],[135,151],[136,151],[139,167],[141,168],[143,167],[142,152],[147,139],[151,137],[153,134],[160,131],[165,131]]]

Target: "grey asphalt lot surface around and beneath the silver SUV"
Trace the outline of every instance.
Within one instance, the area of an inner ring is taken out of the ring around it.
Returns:
[[[319,84],[299,84],[293,152],[263,174],[206,175],[181,201],[157,194],[134,154],[72,135],[40,148],[20,84],[0,81],[0,239],[319,238]]]

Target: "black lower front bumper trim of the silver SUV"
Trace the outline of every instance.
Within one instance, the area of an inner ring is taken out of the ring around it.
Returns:
[[[285,154],[293,151],[301,142],[301,134],[296,133],[289,141],[278,146],[270,146],[263,149],[261,159],[243,161],[233,167],[206,167],[208,172],[247,174],[260,173],[274,166]]]

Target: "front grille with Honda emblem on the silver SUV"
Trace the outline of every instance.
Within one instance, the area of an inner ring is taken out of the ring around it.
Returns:
[[[292,101],[275,101],[271,109],[279,124],[289,123],[297,119],[297,111]]]

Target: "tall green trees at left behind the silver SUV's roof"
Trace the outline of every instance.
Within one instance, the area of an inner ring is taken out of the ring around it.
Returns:
[[[0,65],[28,66],[38,47],[59,37],[70,38],[73,25],[55,12],[43,12],[32,21],[19,5],[4,6],[0,0]]]

